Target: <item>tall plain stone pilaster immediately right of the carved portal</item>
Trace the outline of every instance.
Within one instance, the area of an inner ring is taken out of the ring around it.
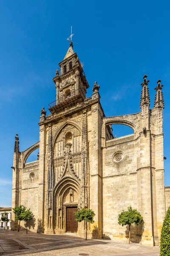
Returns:
[[[94,210],[94,224],[91,225],[93,238],[102,237],[102,154],[101,130],[102,116],[100,105],[96,103],[91,109],[91,170],[90,170],[90,208]]]

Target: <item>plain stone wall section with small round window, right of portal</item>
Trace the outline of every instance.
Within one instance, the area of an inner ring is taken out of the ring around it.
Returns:
[[[138,208],[137,149],[133,138],[134,134],[130,134],[109,140],[109,146],[103,148],[103,237],[125,238],[127,230],[118,224],[118,214],[130,205]],[[136,231],[139,241],[142,234]]]

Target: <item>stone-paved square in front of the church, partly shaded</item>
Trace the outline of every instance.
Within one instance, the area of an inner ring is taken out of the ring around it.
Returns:
[[[94,240],[69,235],[44,235],[0,229],[0,255],[6,256],[159,256],[159,247]]]

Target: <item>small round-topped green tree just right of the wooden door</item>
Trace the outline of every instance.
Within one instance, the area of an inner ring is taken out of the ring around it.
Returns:
[[[89,208],[82,208],[77,212],[74,212],[74,218],[76,221],[78,222],[85,221],[85,240],[87,240],[88,222],[94,223],[94,219],[93,219],[94,216],[95,216],[94,211]]]

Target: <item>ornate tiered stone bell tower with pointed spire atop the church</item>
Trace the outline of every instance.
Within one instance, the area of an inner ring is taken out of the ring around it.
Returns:
[[[56,101],[49,105],[51,113],[57,113],[58,108],[64,105],[76,105],[85,99],[86,89],[89,87],[82,64],[77,53],[73,50],[73,42],[70,41],[68,51],[59,63],[53,81],[56,86]]]

